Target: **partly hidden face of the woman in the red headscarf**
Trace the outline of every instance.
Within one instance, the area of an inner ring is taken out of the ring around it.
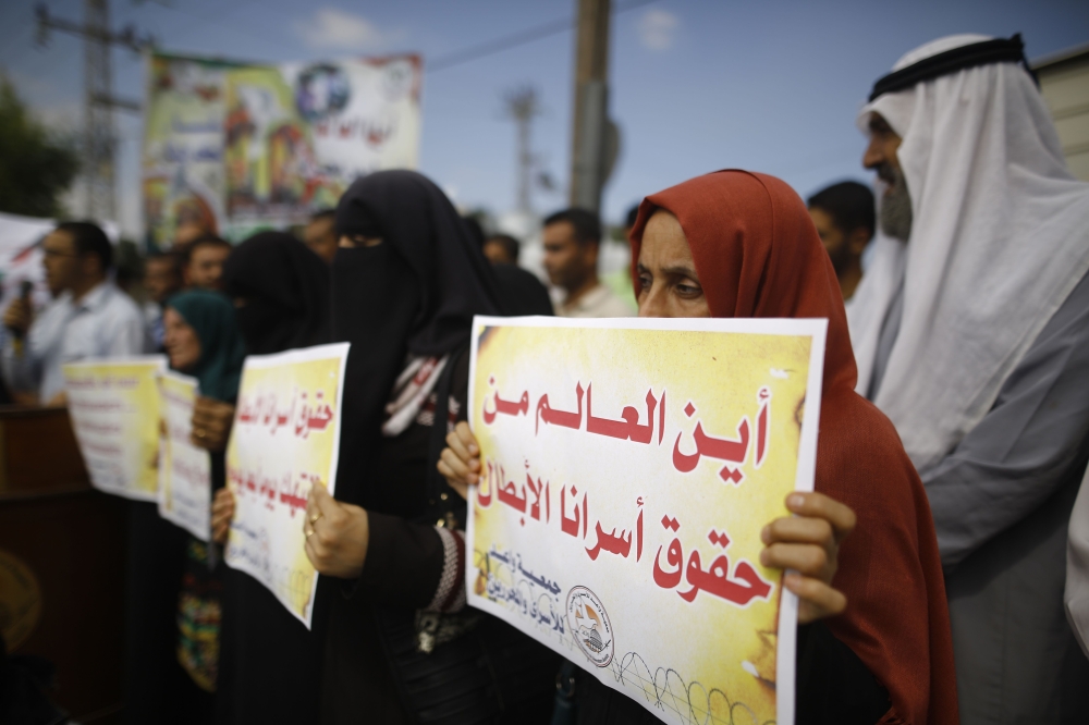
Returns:
[[[639,317],[711,317],[681,222],[659,209],[647,221],[636,265]]]

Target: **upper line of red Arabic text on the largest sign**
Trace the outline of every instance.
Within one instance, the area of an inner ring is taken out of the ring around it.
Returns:
[[[490,378],[489,382],[494,385],[494,377]],[[586,402],[585,411],[583,409],[584,398]],[[537,401],[537,409],[534,416],[535,434],[540,432],[540,425],[543,422],[547,426],[571,428],[573,430],[585,430],[587,433],[595,435],[604,435],[607,438],[615,438],[622,441],[632,441],[633,443],[649,445],[653,443],[656,439],[654,428],[657,425],[658,445],[662,444],[662,440],[665,435],[664,390],[662,390],[660,397],[654,396],[653,389],[647,391],[647,396],[645,398],[647,409],[646,422],[640,422],[641,414],[639,413],[639,409],[633,405],[624,407],[620,415],[621,420],[595,416],[592,383],[588,383],[585,390],[583,389],[582,382],[577,382],[575,384],[575,411],[558,410],[552,407],[549,402],[548,394],[541,395]],[[697,421],[696,430],[692,435],[695,443],[695,453],[685,453],[682,450],[682,447],[689,450],[689,446],[682,446],[681,439],[684,437],[684,433],[678,432],[676,440],[673,443],[673,467],[682,474],[688,474],[696,469],[696,466],[699,465],[700,458],[722,460],[725,465],[719,471],[719,478],[723,481],[729,481],[734,486],[739,486],[742,481],[745,480],[745,475],[742,472],[742,466],[749,459],[750,447],[755,447],[755,451],[752,452],[754,468],[760,468],[768,455],[768,430],[771,425],[770,390],[761,388],[757,392],[757,405],[755,446],[751,445],[752,441],[750,440],[751,431],[749,428],[748,416],[742,416],[741,421],[738,421],[736,438],[715,438],[709,435],[703,430],[703,423],[701,421]],[[685,416],[692,418],[696,414],[696,406],[689,401],[683,410]],[[500,397],[499,391],[495,391],[491,396],[485,397],[481,414],[485,425],[491,426],[495,421],[497,416],[527,416],[528,411],[528,391],[524,391],[522,396],[516,402],[504,401]],[[654,419],[656,411],[658,414],[657,422]]]

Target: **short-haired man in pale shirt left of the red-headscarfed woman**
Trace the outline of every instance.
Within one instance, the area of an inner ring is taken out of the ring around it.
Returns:
[[[598,279],[601,222],[585,209],[564,209],[544,220],[544,270],[567,295],[559,317],[633,317],[634,311]]]

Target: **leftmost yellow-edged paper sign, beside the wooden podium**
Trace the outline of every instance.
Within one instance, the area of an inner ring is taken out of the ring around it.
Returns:
[[[90,482],[107,493],[155,501],[158,489],[159,388],[167,358],[69,362],[69,415]]]

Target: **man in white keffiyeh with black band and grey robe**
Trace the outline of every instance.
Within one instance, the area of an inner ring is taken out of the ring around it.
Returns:
[[[962,722],[1084,722],[1089,662],[1062,598],[1089,459],[1089,184],[1018,36],[907,53],[859,125],[884,194],[848,309],[857,390],[927,487]]]

